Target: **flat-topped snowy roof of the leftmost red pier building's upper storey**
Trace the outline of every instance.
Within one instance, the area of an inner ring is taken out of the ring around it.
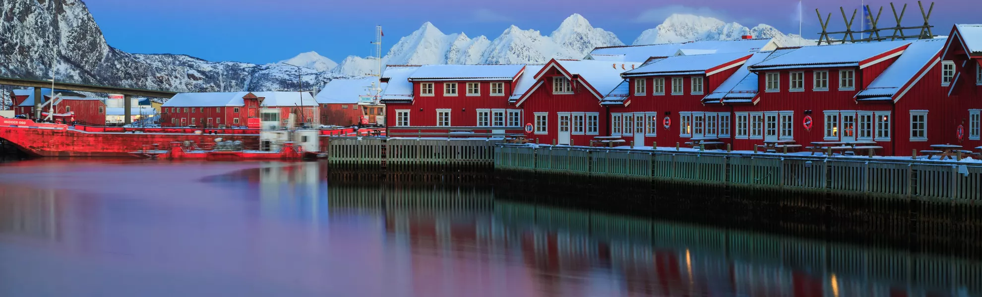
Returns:
[[[424,65],[409,80],[512,80],[524,65]]]

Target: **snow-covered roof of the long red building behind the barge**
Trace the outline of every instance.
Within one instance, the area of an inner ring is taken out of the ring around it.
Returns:
[[[265,98],[262,106],[317,106],[309,92],[251,92]],[[220,107],[244,106],[249,92],[179,93],[162,107]],[[300,104],[302,102],[302,104]]]

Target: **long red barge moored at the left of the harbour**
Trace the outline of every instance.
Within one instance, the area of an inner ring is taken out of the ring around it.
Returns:
[[[282,160],[302,157],[323,151],[329,136],[357,135],[355,127],[308,130],[317,136],[314,144],[300,148],[292,143],[283,143],[283,154],[291,158],[276,157],[260,149],[259,128],[188,128],[188,127],[118,127],[88,126],[72,124],[36,123],[27,119],[0,118],[0,138],[18,147],[25,153],[36,157],[145,157],[133,154],[156,147],[171,151],[174,147],[183,148],[182,154],[170,154],[173,159],[204,160]],[[382,134],[384,130],[360,130]],[[243,150],[214,150],[215,139],[238,142]],[[287,141],[289,142],[289,141]],[[195,144],[192,150],[186,144]],[[317,146],[310,149],[310,146]],[[205,158],[203,151],[216,151],[214,157]],[[288,152],[292,151],[294,153]],[[159,154],[158,154],[159,155]]]

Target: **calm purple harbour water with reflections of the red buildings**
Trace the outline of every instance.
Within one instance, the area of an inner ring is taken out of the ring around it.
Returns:
[[[326,171],[2,165],[0,296],[970,296],[982,281],[955,257]]]

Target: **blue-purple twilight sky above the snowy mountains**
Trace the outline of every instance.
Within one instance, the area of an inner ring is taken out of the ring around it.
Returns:
[[[896,25],[886,0],[866,0],[873,10],[886,6],[881,26]],[[980,24],[975,0],[944,0],[935,5],[935,34],[947,35],[953,24]],[[613,31],[630,44],[641,31],[655,27],[671,13],[692,13],[741,25],[774,25],[797,33],[797,2],[789,0],[87,0],[109,44],[134,53],[188,54],[211,61],[271,63],[300,52],[317,51],[340,62],[348,55],[372,54],[368,43],[374,25],[383,25],[388,47],[431,22],[444,33],[495,38],[508,25],[552,32],[578,13],[595,27]],[[830,26],[844,28],[839,7],[848,14],[859,0],[803,2],[806,37],[817,38],[815,16],[835,13]],[[908,4],[904,25],[922,21],[917,2]],[[929,4],[930,2],[926,2]],[[900,8],[898,8],[900,9]],[[927,8],[925,8],[926,10]],[[874,12],[875,14],[875,12]],[[858,17],[856,25],[858,25]]]

